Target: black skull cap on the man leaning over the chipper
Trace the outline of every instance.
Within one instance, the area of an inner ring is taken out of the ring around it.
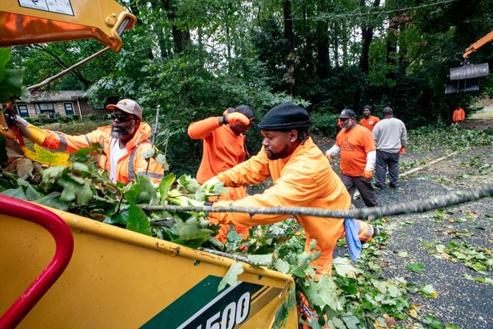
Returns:
[[[292,103],[283,103],[268,110],[257,127],[262,130],[288,132],[298,128],[306,129],[310,124],[307,110]]]

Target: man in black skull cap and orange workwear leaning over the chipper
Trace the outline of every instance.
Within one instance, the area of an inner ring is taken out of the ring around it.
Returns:
[[[218,173],[204,185],[224,182],[225,186],[258,184],[272,178],[273,186],[261,194],[249,195],[236,201],[220,201],[214,207],[314,207],[332,210],[349,210],[351,198],[340,178],[333,172],[329,161],[309,137],[308,112],[291,103],[271,108],[257,125],[264,140],[260,152],[235,167]],[[276,223],[290,215],[260,215],[238,212],[210,212],[212,223],[234,224],[250,227]],[[305,250],[316,240],[316,250],[321,256],[312,262],[319,275],[332,273],[332,252],[344,236],[345,220],[339,218],[294,215],[305,230]],[[351,238],[368,241],[377,235],[364,221],[351,221],[355,228]],[[349,239],[349,236],[348,236]]]

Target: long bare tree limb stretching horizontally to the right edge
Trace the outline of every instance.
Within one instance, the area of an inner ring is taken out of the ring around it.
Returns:
[[[273,207],[273,208],[242,208],[242,207],[192,207],[192,206],[148,206],[141,205],[140,208],[149,211],[210,211],[210,212],[246,212],[251,216],[262,215],[309,215],[316,217],[357,218],[376,219],[390,215],[403,215],[412,212],[426,212],[437,208],[445,208],[455,204],[475,201],[483,197],[493,196],[493,184],[486,184],[465,191],[455,191],[446,195],[431,197],[426,200],[416,200],[405,204],[392,204],[390,206],[375,208],[357,208],[352,210],[329,210],[323,208],[308,207]]]

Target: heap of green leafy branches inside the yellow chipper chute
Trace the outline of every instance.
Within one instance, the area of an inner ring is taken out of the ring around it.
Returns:
[[[204,212],[145,212],[138,205],[203,206],[207,197],[224,192],[221,183],[204,191],[190,175],[169,174],[158,185],[139,175],[131,184],[113,184],[90,155],[97,151],[80,149],[70,166],[31,167],[25,178],[3,170],[1,193],[190,247],[215,242],[218,228],[209,225]]]

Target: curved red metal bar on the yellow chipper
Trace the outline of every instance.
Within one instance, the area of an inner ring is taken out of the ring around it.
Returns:
[[[42,226],[53,236],[56,245],[55,256],[49,265],[0,317],[0,329],[10,329],[15,328],[24,319],[53,283],[60,278],[72,257],[73,236],[70,228],[58,215],[30,202],[0,195],[0,214]]]

